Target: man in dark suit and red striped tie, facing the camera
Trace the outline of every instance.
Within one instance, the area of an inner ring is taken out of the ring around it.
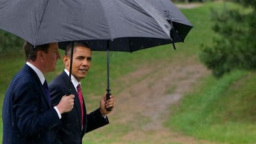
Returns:
[[[77,87],[80,87],[80,80],[85,78],[88,70],[90,69],[92,52],[87,43],[84,43],[83,41],[74,42],[74,57],[72,61],[71,77],[72,83],[70,83],[69,69],[71,47],[72,44],[69,44],[66,47],[66,53],[63,57],[66,69],[49,84],[49,90],[53,104],[59,103],[61,95],[64,95],[65,93],[72,93],[75,95],[74,109],[63,114],[61,119],[62,124],[59,127],[59,139],[64,144],[81,144],[85,133],[109,124],[108,117],[106,117],[106,115],[110,111],[106,111],[106,108],[114,107],[114,98],[113,95],[111,95],[110,99],[106,101],[105,94],[103,98],[101,98],[100,108],[90,114],[87,114],[81,88],[77,89]],[[69,90],[69,87],[71,88],[71,91]]]

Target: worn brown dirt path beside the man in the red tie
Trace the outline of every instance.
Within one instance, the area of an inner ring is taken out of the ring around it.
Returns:
[[[116,97],[115,109],[118,111],[111,113],[111,117],[115,117],[112,122],[129,124],[134,129],[122,137],[122,144],[213,144],[172,132],[163,126],[171,114],[169,107],[191,90],[198,78],[207,74],[209,71],[202,64],[189,59],[181,64],[162,62],[157,66],[143,66],[122,78],[120,81],[126,83],[127,88]],[[131,78],[139,82],[132,83]]]

